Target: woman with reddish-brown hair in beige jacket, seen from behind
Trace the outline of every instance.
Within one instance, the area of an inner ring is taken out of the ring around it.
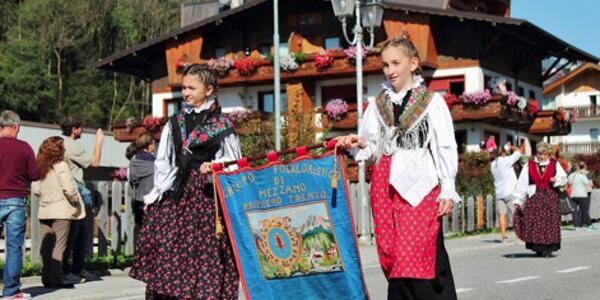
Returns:
[[[79,196],[69,165],[64,160],[63,139],[49,137],[40,146],[37,163],[40,181],[32,185],[39,197],[38,219],[42,245],[42,283],[45,287],[72,287],[80,278],[63,274],[63,256],[67,247],[71,220],[85,217],[83,200]]]

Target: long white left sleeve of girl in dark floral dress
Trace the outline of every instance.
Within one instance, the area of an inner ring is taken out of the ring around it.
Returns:
[[[164,193],[173,187],[177,171],[173,130],[171,129],[171,122],[167,122],[160,135],[160,143],[154,161],[154,187],[150,193],[144,196],[144,203],[152,204],[160,200]]]

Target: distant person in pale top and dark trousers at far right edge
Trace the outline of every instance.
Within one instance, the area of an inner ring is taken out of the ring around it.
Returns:
[[[576,170],[569,175],[569,184],[571,185],[571,201],[575,204],[573,207],[573,225],[575,231],[587,227],[588,231],[596,229],[590,218],[590,195],[592,181],[588,178],[588,171],[585,162],[579,161]]]

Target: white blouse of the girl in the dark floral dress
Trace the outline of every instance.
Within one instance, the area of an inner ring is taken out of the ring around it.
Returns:
[[[199,113],[210,108],[214,100],[208,101],[199,108],[185,107],[185,113],[195,111]],[[240,141],[234,133],[229,134],[221,142],[221,147],[215,154],[212,162],[223,162],[238,160],[242,157]],[[165,192],[171,190],[175,177],[177,176],[177,166],[175,165],[175,146],[173,144],[173,130],[171,122],[165,124],[165,128],[160,136],[156,160],[154,161],[154,188],[144,196],[144,203],[152,204],[160,200]]]

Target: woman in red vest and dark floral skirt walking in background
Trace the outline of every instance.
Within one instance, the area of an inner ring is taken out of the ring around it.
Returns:
[[[523,166],[513,195],[516,203],[513,227],[527,249],[538,256],[550,257],[560,249],[557,189],[568,180],[560,163],[550,158],[550,144],[539,142],[536,148],[537,156]]]

